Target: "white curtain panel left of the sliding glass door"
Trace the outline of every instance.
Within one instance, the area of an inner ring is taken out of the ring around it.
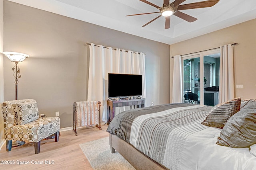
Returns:
[[[174,56],[173,81],[172,81],[172,103],[183,103],[182,92],[182,64],[181,56]]]

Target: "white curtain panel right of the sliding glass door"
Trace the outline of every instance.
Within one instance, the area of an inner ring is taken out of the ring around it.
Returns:
[[[234,98],[234,47],[220,46],[220,87],[219,103]]]

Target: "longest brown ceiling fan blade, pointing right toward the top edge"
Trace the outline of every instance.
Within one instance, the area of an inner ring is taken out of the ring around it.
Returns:
[[[195,8],[206,8],[206,7],[211,7],[217,4],[219,0],[207,0],[207,1],[202,1],[202,2],[195,2],[191,4],[184,4],[184,5],[179,5],[177,10],[190,10],[190,9],[195,9]]]

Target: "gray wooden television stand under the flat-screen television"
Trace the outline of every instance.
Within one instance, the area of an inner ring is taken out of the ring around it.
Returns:
[[[115,117],[115,107],[136,106],[136,108],[145,107],[145,98],[140,99],[108,99],[107,100],[107,125]]]

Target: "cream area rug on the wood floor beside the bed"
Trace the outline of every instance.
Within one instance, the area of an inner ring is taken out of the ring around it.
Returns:
[[[79,144],[95,170],[135,170],[118,152],[111,153],[109,137]]]

